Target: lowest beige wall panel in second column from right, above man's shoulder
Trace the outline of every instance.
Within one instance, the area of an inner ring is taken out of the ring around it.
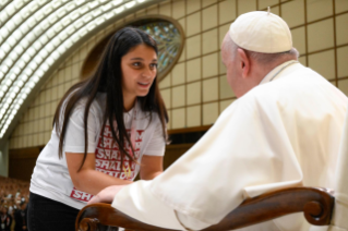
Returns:
[[[327,80],[335,78],[335,52],[328,50],[309,56],[309,68],[313,69]]]

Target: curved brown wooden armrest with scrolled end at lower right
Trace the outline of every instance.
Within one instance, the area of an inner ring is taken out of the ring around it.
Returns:
[[[290,187],[245,199],[219,223],[203,231],[224,231],[249,227],[303,211],[314,226],[329,224],[335,198],[333,191],[320,187]]]

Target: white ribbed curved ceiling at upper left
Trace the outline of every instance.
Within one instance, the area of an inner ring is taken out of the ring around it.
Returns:
[[[0,139],[52,66],[91,33],[155,0],[1,0]]]

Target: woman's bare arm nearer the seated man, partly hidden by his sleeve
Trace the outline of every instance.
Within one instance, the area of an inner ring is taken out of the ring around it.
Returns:
[[[164,171],[163,156],[147,156],[142,158],[140,177],[142,180],[153,180]]]

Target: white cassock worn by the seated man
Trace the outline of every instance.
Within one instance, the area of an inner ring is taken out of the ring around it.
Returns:
[[[333,189],[347,102],[311,69],[283,63],[161,175],[122,189],[112,206],[153,226],[200,230],[265,192]],[[319,227],[295,214],[241,230],[310,229]]]

